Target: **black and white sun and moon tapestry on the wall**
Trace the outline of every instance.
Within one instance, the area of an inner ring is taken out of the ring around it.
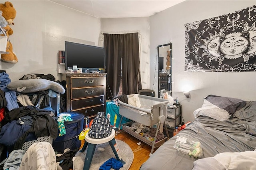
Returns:
[[[256,5],[185,24],[185,71],[256,71]]]

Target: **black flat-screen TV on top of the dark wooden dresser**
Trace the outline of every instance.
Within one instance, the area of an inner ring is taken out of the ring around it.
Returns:
[[[65,69],[77,68],[105,69],[104,48],[65,41]]]

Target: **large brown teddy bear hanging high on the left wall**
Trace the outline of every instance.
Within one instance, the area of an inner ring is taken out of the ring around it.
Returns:
[[[12,28],[9,25],[14,25],[14,18],[16,17],[16,10],[13,7],[11,2],[4,2],[4,4],[0,4],[0,10],[2,11],[2,16],[8,22],[8,25],[4,27],[6,30],[6,35],[8,36],[6,52],[7,54],[1,54],[1,60],[8,63],[17,63],[18,59],[16,55],[12,51],[12,43],[9,40],[9,36],[13,34]],[[2,35],[3,36],[3,35]]]

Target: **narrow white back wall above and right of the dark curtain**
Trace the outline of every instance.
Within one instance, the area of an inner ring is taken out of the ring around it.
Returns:
[[[139,31],[141,35],[140,75],[142,89],[152,89],[150,84],[149,17],[101,19],[101,31],[108,34],[126,34]]]

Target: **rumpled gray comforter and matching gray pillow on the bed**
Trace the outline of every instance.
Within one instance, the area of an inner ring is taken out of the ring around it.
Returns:
[[[212,98],[212,99],[211,99]],[[140,170],[192,170],[194,161],[223,152],[245,152],[256,148],[256,101],[242,101],[210,95],[204,99],[228,111],[228,120],[198,116],[185,129],[160,146]],[[230,107],[229,107],[230,106]],[[204,107],[204,106],[203,106]],[[214,109],[213,109],[214,110]],[[212,113],[218,115],[218,113]],[[174,148],[176,138],[185,136],[201,142],[203,155],[194,158]]]

